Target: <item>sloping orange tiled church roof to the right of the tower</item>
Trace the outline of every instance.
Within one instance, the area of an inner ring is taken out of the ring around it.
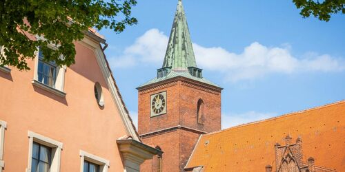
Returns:
[[[286,135],[302,138],[303,160],[317,166],[345,169],[345,101],[208,133],[199,139],[186,169],[264,171],[275,169],[275,143]]]

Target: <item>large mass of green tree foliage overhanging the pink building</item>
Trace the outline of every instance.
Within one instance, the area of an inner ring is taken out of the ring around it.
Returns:
[[[72,65],[74,41],[83,39],[88,28],[122,32],[126,25],[135,25],[131,9],[136,4],[136,0],[1,0],[0,45],[5,53],[0,65],[28,70],[26,61],[34,58],[37,47],[44,61]],[[34,41],[32,36],[44,39]],[[53,50],[49,44],[57,46]]]

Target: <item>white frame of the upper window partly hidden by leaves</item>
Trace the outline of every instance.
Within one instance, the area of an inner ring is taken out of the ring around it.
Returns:
[[[48,45],[48,47],[51,47],[52,49],[54,49],[53,45]],[[62,98],[65,98],[66,93],[64,92],[64,85],[65,85],[65,73],[67,69],[66,65],[63,65],[62,67],[57,66],[55,87],[50,87],[49,85],[39,82],[38,66],[39,66],[39,48],[37,47],[37,52],[35,53],[35,58],[34,58],[34,78],[32,79],[32,85],[40,87],[41,89],[45,89],[46,91],[51,92],[52,94],[56,94],[57,96],[60,96]]]

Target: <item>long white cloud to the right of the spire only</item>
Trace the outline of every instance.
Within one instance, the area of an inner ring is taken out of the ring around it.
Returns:
[[[245,47],[242,54],[221,47],[194,44],[194,48],[201,67],[222,72],[231,81],[253,80],[268,74],[342,72],[345,69],[344,60],[328,54],[309,53],[299,59],[290,53],[290,47],[266,47],[257,42]]]

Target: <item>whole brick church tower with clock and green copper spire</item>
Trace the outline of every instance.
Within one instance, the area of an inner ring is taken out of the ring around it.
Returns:
[[[184,171],[200,134],[221,129],[221,87],[197,67],[181,0],[157,77],[139,86],[138,132],[164,153],[141,171]]]

